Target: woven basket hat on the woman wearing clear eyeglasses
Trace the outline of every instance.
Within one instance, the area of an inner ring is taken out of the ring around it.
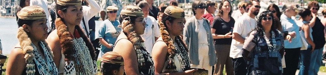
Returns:
[[[144,13],[140,7],[129,5],[123,7],[120,15],[138,17],[138,16],[144,16]]]

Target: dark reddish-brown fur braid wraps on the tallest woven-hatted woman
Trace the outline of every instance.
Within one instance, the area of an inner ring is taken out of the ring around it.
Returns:
[[[74,60],[72,57],[72,54],[74,54],[74,45],[73,45],[73,37],[70,35],[70,32],[68,31],[67,25],[61,20],[61,18],[57,18],[55,20],[55,26],[57,29],[57,34],[60,39],[60,46],[62,47],[61,53],[65,55],[65,57],[68,59],[66,61]],[[96,60],[95,56],[95,49],[92,46],[92,43],[87,38],[87,36],[84,34],[84,31],[80,28],[79,25],[75,26],[75,29],[78,31],[82,39],[84,40],[87,48],[89,49],[89,53],[93,60]]]

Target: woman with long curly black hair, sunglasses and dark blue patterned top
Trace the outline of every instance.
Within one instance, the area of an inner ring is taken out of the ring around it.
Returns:
[[[249,61],[249,75],[282,75],[284,37],[273,18],[272,12],[262,12],[256,29],[244,41],[242,55]]]

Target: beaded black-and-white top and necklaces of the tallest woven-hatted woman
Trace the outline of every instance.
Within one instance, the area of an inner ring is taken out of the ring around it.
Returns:
[[[64,62],[64,75],[95,75],[97,74],[96,61],[93,61],[89,54],[88,47],[77,30],[74,31],[73,41],[73,59]],[[61,57],[65,61],[65,56]],[[62,62],[60,62],[60,66]]]

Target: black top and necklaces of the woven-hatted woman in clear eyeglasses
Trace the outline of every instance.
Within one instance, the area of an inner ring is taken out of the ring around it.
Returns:
[[[126,39],[126,38],[121,38],[121,39]],[[119,40],[121,40],[121,39],[119,39]],[[143,44],[141,45],[140,49],[136,49],[135,46],[134,46],[134,48],[135,48],[136,54],[137,54],[139,73],[144,74],[144,75],[154,75],[154,62],[153,62],[153,58],[152,58],[151,54],[149,54],[146,51]]]

